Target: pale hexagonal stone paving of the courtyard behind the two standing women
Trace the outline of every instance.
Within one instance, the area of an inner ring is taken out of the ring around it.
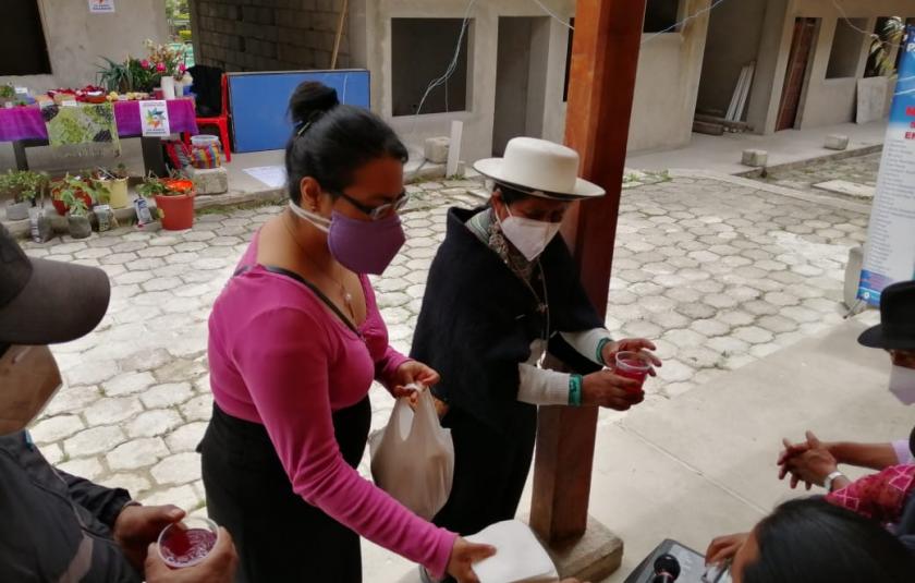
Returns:
[[[473,187],[410,187],[408,242],[376,280],[401,350],[410,345],[447,208],[478,204]],[[148,503],[203,509],[194,448],[211,408],[208,313],[252,233],[280,209],[203,215],[187,232],[122,229],[24,244],[35,257],[100,266],[113,286],[99,328],[54,347],[66,386],[33,427],[51,462]],[[847,248],[864,240],[866,220],[712,179],[626,190],[607,321],[617,335],[656,340],[664,366],[647,386],[649,398],[681,394],[840,321]],[[379,427],[392,402],[378,388],[373,400]],[[605,412],[602,422],[615,417]]]

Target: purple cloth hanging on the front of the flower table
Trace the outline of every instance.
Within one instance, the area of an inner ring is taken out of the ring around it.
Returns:
[[[169,99],[168,107],[169,126],[173,133],[197,133],[193,99]],[[118,135],[121,137],[138,136],[143,133],[139,125],[139,101],[114,101],[114,119],[118,122]],[[47,138],[48,129],[38,106],[0,109],[0,142]]]

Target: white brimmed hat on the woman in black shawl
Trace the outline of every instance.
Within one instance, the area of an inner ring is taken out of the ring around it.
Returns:
[[[477,160],[480,174],[507,186],[562,201],[603,196],[597,184],[578,178],[578,153],[553,142],[514,137],[505,146],[504,158]]]

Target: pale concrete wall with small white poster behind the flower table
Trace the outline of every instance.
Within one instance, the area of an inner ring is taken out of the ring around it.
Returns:
[[[115,3],[113,14],[93,14],[85,0],[38,0],[50,75],[0,76],[0,84],[45,92],[96,83],[101,57],[114,61],[144,54],[143,41],[168,39],[164,0]]]

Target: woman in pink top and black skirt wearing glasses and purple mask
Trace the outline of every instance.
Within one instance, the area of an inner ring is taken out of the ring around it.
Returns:
[[[321,84],[300,85],[290,112],[290,207],[254,238],[210,315],[209,514],[235,538],[239,582],[362,581],[358,535],[475,582],[472,562],[495,549],[419,519],[355,470],[371,381],[395,397],[438,381],[388,344],[366,277],[404,241],[406,149]]]

